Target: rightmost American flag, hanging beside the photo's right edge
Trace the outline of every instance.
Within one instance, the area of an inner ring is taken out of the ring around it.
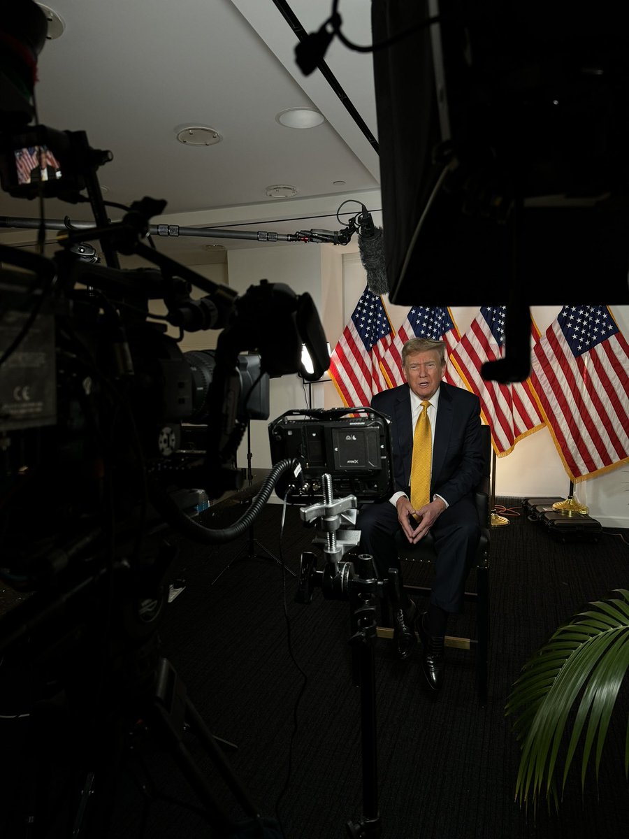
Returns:
[[[629,460],[629,345],[607,306],[564,306],[531,379],[573,482]]]

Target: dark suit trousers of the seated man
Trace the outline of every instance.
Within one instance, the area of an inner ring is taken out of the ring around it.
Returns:
[[[398,539],[406,539],[406,536],[398,522],[398,511],[392,503],[386,501],[363,505],[356,519],[356,528],[361,531],[359,550],[362,554],[372,555],[378,579],[386,580],[389,568],[395,568],[402,585],[396,534],[400,534]],[[472,498],[465,497],[451,504],[435,521],[430,533],[437,554],[430,602],[445,612],[460,612],[465,580],[481,538],[478,514]]]

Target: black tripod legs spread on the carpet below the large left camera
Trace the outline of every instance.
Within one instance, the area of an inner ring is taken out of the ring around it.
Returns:
[[[105,722],[107,723],[107,720]],[[56,764],[43,764],[48,775],[43,775],[41,767],[39,768],[34,782],[34,808],[28,811],[28,819],[23,820],[33,822],[34,832],[20,832],[20,837],[53,839],[55,836],[80,836],[81,839],[109,839],[114,835],[113,831],[117,831],[114,814],[118,793],[123,791],[120,780],[123,770],[133,755],[134,759],[138,760],[138,754],[144,745],[148,745],[146,741],[150,740],[153,748],[157,748],[158,753],[169,758],[179,769],[182,778],[194,793],[198,806],[179,804],[178,800],[168,795],[156,794],[150,775],[148,781],[143,779],[141,783],[136,782],[142,794],[140,800],[144,801],[145,806],[151,800],[159,798],[164,798],[171,805],[187,806],[205,821],[208,836],[238,839],[243,835],[241,831],[245,827],[252,829],[253,826],[257,826],[256,836],[280,839],[277,822],[260,815],[260,810],[231,769],[224,749],[237,747],[211,733],[199,711],[191,703],[184,683],[168,659],[159,660],[152,695],[148,692],[146,699],[141,701],[138,714],[129,717],[123,714],[119,719],[112,720],[111,724],[104,728],[102,737],[99,736],[100,732],[92,737],[93,733],[84,727],[76,733],[76,737],[87,736],[87,748],[79,751],[73,746],[70,747],[72,753],[77,755],[77,763],[69,774],[70,782],[65,788],[56,782],[55,786],[52,786],[51,773],[59,771]],[[205,757],[210,759],[218,779],[231,793],[237,804],[236,810],[242,812],[244,819],[231,815],[226,805],[225,793],[221,795],[220,790],[215,789],[215,782],[211,780],[211,776],[205,774],[205,769],[193,753],[198,752],[198,748],[195,748],[191,735],[202,747],[200,757],[205,754]],[[67,744],[64,745],[67,748]],[[154,764],[155,757],[153,766]],[[42,778],[46,779],[43,786]],[[169,778],[172,783],[172,770]],[[66,795],[67,798],[56,798],[57,794]],[[55,805],[51,804],[52,800],[55,800]],[[127,801],[127,808],[129,806],[131,805]],[[132,815],[138,816],[135,805]],[[147,815],[145,810],[142,816],[143,823]],[[143,831],[141,835],[144,835]],[[249,835],[248,832],[245,835]],[[17,833],[15,837],[17,839]]]

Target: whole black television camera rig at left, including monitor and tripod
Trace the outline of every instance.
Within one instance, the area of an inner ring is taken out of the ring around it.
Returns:
[[[38,200],[42,228],[47,197],[89,201],[95,224],[68,225],[52,258],[0,246],[0,582],[23,593],[0,619],[3,705],[14,699],[29,711],[39,769],[26,784],[36,789],[23,817],[35,807],[37,836],[69,835],[69,826],[73,835],[101,836],[143,720],[196,779],[199,768],[181,748],[182,720],[194,720],[231,777],[161,657],[169,569],[179,535],[220,545],[245,533],[294,467],[273,466],[235,524],[209,529],[195,520],[190,499],[241,485],[237,449],[248,421],[268,418],[268,379],[320,378],[329,352],[309,294],[267,279],[237,294],[150,247],[148,221],[164,201],[144,197],[109,219],[96,172],[112,154],[92,149],[85,132],[30,124],[44,13],[36,3],[6,11],[3,189]],[[131,254],[148,267],[122,268],[121,255]],[[182,351],[186,333],[205,330],[220,331],[215,351]],[[233,826],[208,785],[192,785],[227,835]],[[257,813],[244,793],[239,800],[247,815]]]

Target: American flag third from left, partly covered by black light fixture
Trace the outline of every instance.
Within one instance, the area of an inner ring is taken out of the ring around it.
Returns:
[[[508,455],[517,440],[544,424],[530,378],[502,384],[481,376],[485,362],[505,355],[505,310],[505,306],[481,306],[450,356],[468,389],[481,399],[481,415],[491,427],[491,443],[499,457]],[[534,343],[539,336],[535,326],[532,336]]]

